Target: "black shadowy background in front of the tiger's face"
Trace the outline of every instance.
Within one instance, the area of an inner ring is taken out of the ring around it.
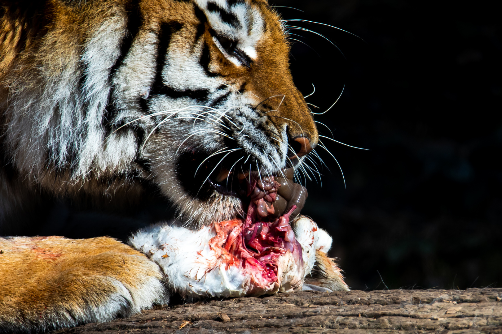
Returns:
[[[276,0],[295,42],[292,71],[343,143],[308,214],[334,239],[356,289],[502,286],[502,45],[490,3]],[[495,4],[496,2],[491,2]],[[322,135],[331,137],[318,124]],[[336,129],[336,130],[335,130]],[[312,164],[311,164],[312,165]],[[320,167],[318,167],[320,168]],[[380,284],[380,285],[379,285]]]

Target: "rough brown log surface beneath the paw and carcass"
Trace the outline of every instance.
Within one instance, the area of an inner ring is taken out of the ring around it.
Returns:
[[[502,288],[301,291],[158,306],[52,333],[502,334]]]

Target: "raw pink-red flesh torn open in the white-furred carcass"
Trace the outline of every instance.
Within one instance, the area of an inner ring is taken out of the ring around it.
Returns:
[[[264,191],[262,187],[258,197],[252,196],[246,219],[235,218],[215,223],[217,235],[209,240],[212,249],[218,248],[226,263],[226,269],[230,265],[238,266],[252,275],[252,284],[262,289],[278,281],[278,258],[286,252],[290,251],[297,265],[303,266],[302,248],[289,223],[290,215],[296,206],[273,221],[267,221],[267,216],[263,216],[264,210],[258,210],[258,206],[265,203],[267,212],[274,213],[274,207],[267,205],[267,202],[275,200],[278,183],[273,177],[269,177],[269,180],[275,186],[269,191]],[[259,180],[256,177],[250,177],[248,194],[259,193],[260,189],[255,189],[258,187],[257,181]],[[245,233],[251,235],[248,242],[245,240]]]

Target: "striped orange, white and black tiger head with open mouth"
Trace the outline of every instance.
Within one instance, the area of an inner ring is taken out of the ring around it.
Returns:
[[[3,145],[31,182],[68,194],[147,181],[184,221],[206,224],[242,211],[239,175],[298,166],[316,146],[287,34],[266,1],[46,6],[50,22],[22,46],[4,39],[15,56],[0,62]],[[4,11],[5,32],[6,17],[21,19]]]

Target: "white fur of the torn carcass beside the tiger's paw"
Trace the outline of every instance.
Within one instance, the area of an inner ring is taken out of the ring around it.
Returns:
[[[287,252],[277,260],[277,282],[261,285],[256,276],[227,264],[209,246],[213,227],[198,231],[172,225],[156,225],[137,232],[129,243],[159,264],[170,289],[182,296],[238,297],[301,290],[308,272]]]

